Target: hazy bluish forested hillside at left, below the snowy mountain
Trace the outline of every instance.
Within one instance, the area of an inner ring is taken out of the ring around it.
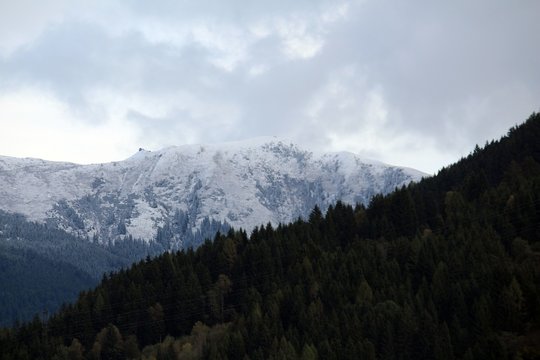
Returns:
[[[133,239],[99,246],[0,210],[0,326],[58,311],[96,286],[103,272],[162,252],[160,243]]]

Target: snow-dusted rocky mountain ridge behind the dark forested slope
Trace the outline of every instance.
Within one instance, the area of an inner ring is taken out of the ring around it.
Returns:
[[[285,223],[315,205],[367,203],[422,176],[276,138],[141,149],[93,165],[0,157],[0,209],[100,242],[152,241],[158,229],[173,229],[171,246],[181,247],[203,227]]]

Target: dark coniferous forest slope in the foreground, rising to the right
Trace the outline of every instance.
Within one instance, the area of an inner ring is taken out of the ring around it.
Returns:
[[[2,359],[539,359],[540,114],[436,176],[230,230],[0,330]]]

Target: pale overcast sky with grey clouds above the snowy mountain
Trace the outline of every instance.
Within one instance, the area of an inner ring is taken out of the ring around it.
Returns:
[[[436,172],[540,110],[540,1],[0,0],[0,154],[279,136]]]

